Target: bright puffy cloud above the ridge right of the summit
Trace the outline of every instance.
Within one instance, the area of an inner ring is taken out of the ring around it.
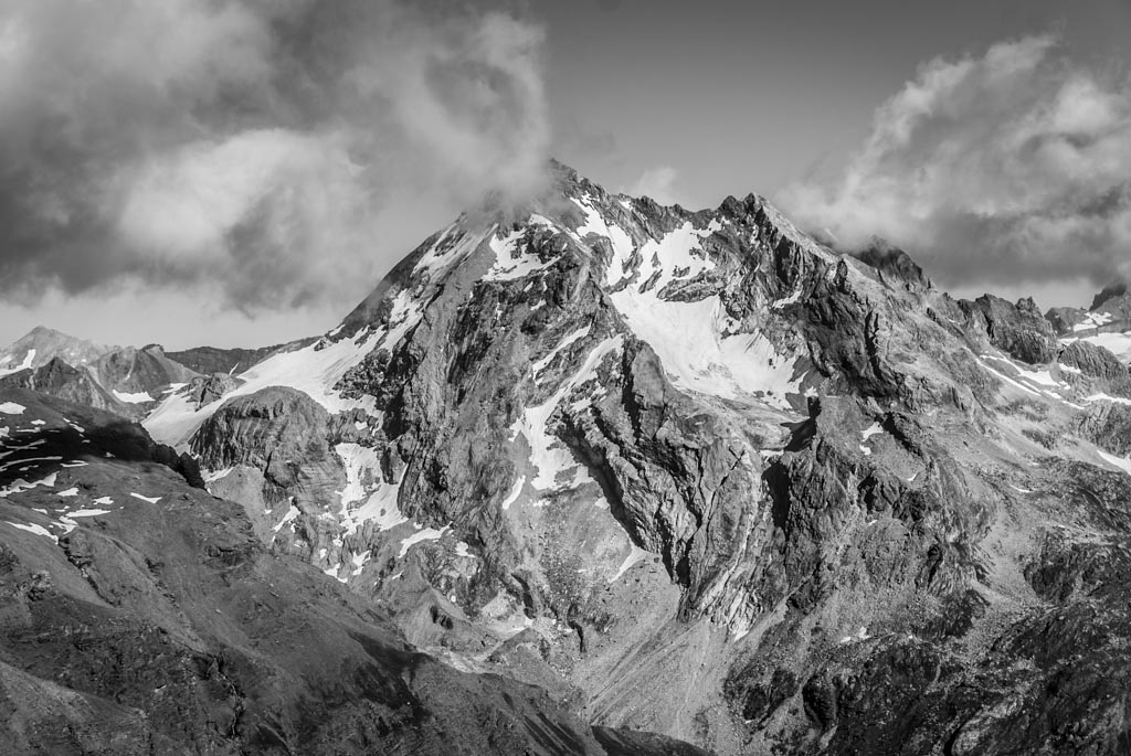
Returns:
[[[947,285],[1131,275],[1131,81],[1053,36],[936,59],[875,113],[829,185],[780,202],[846,246],[879,235]]]

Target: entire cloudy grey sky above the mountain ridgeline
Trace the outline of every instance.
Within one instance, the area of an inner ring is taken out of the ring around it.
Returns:
[[[323,332],[549,156],[961,296],[1131,273],[1131,0],[0,0],[0,342]]]

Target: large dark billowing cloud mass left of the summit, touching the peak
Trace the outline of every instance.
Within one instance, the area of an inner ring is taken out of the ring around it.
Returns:
[[[360,297],[394,209],[543,181],[543,43],[482,3],[0,0],[0,289]]]

